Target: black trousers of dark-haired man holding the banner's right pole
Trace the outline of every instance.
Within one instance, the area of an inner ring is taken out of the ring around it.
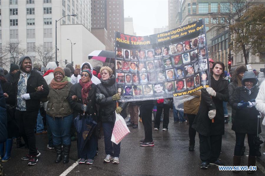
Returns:
[[[200,139],[200,158],[202,162],[216,162],[222,147],[222,135],[203,136]]]

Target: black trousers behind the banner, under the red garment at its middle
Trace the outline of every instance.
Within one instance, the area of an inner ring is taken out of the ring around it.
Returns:
[[[161,117],[163,109],[164,109],[163,128],[168,129],[170,106],[166,106],[166,105],[163,105],[163,107],[157,106],[157,111],[155,115],[155,128],[159,129],[160,127],[160,117]]]

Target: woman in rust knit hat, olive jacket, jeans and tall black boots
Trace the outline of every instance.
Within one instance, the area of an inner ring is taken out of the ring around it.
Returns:
[[[46,118],[52,131],[52,140],[56,150],[55,163],[59,163],[63,159],[63,163],[66,164],[69,162],[70,130],[73,118],[73,110],[67,98],[72,83],[68,82],[64,70],[60,67],[54,70],[53,75],[54,79],[49,84]]]

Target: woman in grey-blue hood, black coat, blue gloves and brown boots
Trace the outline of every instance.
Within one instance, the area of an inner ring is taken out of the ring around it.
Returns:
[[[233,94],[232,107],[237,110],[232,125],[232,130],[236,133],[236,145],[233,156],[234,166],[240,166],[241,164],[241,150],[244,145],[246,134],[249,144],[248,166],[255,166],[256,163],[254,137],[257,132],[261,133],[259,119],[257,118],[259,111],[255,106],[255,98],[259,92],[256,86],[257,82],[258,79],[255,73],[253,73],[253,71],[246,71],[241,80],[242,86],[238,86]],[[259,125],[257,123],[259,123]],[[233,172],[238,173],[239,171]],[[249,170],[247,173],[251,174],[254,173],[254,171]]]

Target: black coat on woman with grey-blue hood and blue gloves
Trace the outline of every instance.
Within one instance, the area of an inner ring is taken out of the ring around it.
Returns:
[[[232,100],[232,107],[237,109],[237,104],[240,101],[248,102],[251,99],[255,99],[258,95],[259,89],[255,86],[251,90],[249,95],[248,90],[244,86],[237,87]],[[236,133],[246,133],[246,134],[257,134],[259,111],[256,107],[244,108],[236,111],[236,115],[233,121],[232,130]],[[259,121],[259,133],[261,133],[260,121]]]

